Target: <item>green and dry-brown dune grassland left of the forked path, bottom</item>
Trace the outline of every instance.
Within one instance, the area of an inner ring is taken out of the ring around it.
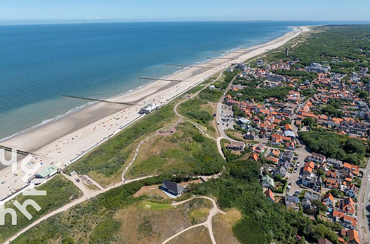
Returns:
[[[207,216],[194,218],[191,213],[211,207],[211,201],[202,198],[172,208],[169,204],[155,203],[159,202],[156,198],[132,196],[143,186],[161,183],[163,178],[177,180],[171,177],[155,176],[114,188],[42,221],[13,243],[161,243],[177,231],[205,221]],[[186,197],[190,195],[185,193],[180,199]],[[158,210],[144,210],[141,204]],[[165,211],[164,206],[168,207]]]

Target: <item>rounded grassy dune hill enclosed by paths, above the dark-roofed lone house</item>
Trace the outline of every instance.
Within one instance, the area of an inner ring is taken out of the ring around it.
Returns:
[[[189,122],[176,127],[176,133],[156,136],[142,145],[145,153],[139,153],[127,178],[146,175],[174,174],[214,174],[226,163],[218,153],[216,143],[202,136]]]

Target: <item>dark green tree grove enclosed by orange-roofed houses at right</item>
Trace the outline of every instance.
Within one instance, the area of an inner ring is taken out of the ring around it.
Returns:
[[[312,128],[309,132],[299,131],[298,135],[312,151],[355,165],[361,164],[367,150],[364,142],[357,138],[321,128]]]

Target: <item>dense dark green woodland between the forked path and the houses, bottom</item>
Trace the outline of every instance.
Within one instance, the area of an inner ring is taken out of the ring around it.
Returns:
[[[257,177],[260,164],[249,160],[229,162],[229,172],[218,179],[189,187],[191,194],[212,195],[224,210],[237,208],[242,213],[233,232],[241,244],[297,243],[295,235],[304,236],[311,242],[326,237],[338,244],[335,232],[312,221],[302,212],[288,211],[279,203],[270,204],[264,196]]]

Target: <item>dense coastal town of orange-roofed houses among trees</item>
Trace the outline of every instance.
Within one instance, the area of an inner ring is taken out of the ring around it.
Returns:
[[[289,57],[289,48],[285,54]],[[368,228],[367,221],[359,221],[364,219],[364,207],[369,204],[368,198],[363,203],[359,195],[360,190],[365,191],[369,177],[360,166],[367,167],[368,159],[322,155],[317,151],[324,153],[323,148],[307,145],[310,141],[304,135],[310,136],[313,129],[364,143],[369,139],[369,69],[359,67],[350,75],[331,72],[330,64],[338,62],[342,61],[332,59],[324,65],[310,63],[307,67],[294,58],[238,63],[228,70],[236,71],[237,77],[223,101],[234,113],[230,116],[221,111],[218,123],[227,122],[229,150],[237,154],[248,151],[251,161],[263,163],[260,180],[271,202],[303,211],[312,220],[339,223],[343,229],[338,232],[338,241],[360,244],[368,240],[363,230]],[[256,87],[255,94],[262,95],[255,98],[250,94],[251,86]],[[279,88],[285,97],[268,97],[269,89]],[[321,243],[331,244],[327,239],[318,240]]]

